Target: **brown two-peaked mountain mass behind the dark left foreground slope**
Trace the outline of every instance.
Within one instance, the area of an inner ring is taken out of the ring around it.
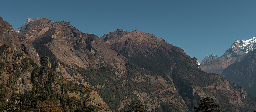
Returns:
[[[150,111],[187,112],[206,96],[222,111],[253,111],[256,106],[256,97],[246,90],[201,71],[196,58],[153,34],[118,29],[99,38],[68,22],[43,18],[29,22],[19,35],[27,35],[65,80],[97,91],[111,111],[127,111],[140,100]],[[104,102],[101,111],[108,109]]]

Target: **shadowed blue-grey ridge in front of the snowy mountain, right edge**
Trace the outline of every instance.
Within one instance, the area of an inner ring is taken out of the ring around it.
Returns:
[[[256,96],[256,50],[241,62],[229,65],[221,75]]]

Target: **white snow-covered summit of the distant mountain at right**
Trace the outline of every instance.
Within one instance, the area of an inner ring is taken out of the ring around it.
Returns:
[[[239,49],[244,53],[248,53],[253,49],[256,49],[256,37],[250,38],[249,40],[237,40],[231,46],[231,49]]]

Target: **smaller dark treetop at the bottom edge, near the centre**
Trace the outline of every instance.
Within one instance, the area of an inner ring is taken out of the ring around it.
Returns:
[[[128,112],[147,112],[147,109],[142,104],[142,102],[138,101],[136,103],[132,103],[131,105],[129,105]]]

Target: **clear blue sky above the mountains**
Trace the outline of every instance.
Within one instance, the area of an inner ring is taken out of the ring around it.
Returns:
[[[256,36],[256,0],[2,0],[0,16],[17,29],[27,18],[67,21],[84,33],[123,28],[164,38],[199,62]]]

